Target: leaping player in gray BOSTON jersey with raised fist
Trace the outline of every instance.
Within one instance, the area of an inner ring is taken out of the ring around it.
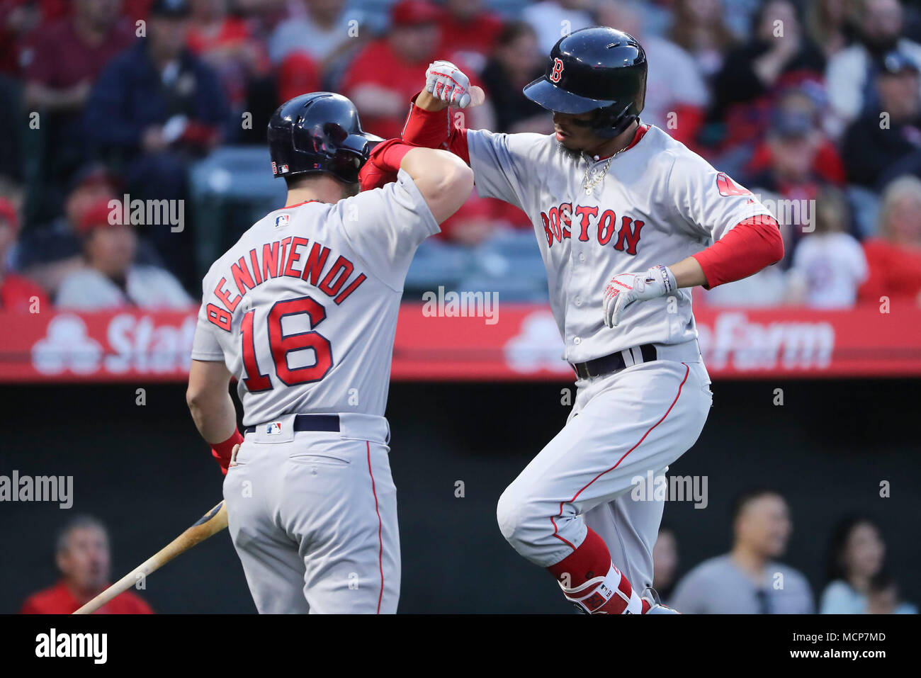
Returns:
[[[589,614],[673,612],[651,590],[664,499],[630,491],[647,473],[659,483],[711,405],[689,288],[783,256],[775,219],[752,193],[641,123],[646,76],[631,36],[577,30],[524,89],[553,111],[555,133],[492,134],[449,117],[449,105],[478,92],[436,62],[402,134],[457,153],[481,196],[534,225],[577,396],[565,427],[500,497],[497,518],[509,544]]]

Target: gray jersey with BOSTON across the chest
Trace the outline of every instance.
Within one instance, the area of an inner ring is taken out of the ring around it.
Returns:
[[[638,136],[610,164],[589,164],[562,150],[554,134],[467,132],[477,193],[519,206],[534,225],[569,362],[696,338],[689,289],[677,291],[674,308],[668,297],[634,304],[610,330],[604,287],[612,275],[677,263],[741,221],[771,214],[658,127],[644,125]]]

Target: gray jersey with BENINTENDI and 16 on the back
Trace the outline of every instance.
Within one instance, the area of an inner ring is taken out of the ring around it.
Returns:
[[[239,380],[243,424],[383,416],[402,285],[438,232],[414,181],[264,216],[204,276],[192,358]]]

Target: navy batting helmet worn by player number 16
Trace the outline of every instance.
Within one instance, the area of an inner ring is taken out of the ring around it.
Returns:
[[[355,104],[332,92],[290,99],[269,121],[276,177],[326,172],[344,183],[356,183],[358,170],[381,141],[361,128]]]

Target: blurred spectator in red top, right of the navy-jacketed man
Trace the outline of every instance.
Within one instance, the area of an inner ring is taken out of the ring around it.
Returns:
[[[230,105],[239,111],[250,81],[268,73],[269,59],[246,21],[228,16],[228,4],[229,0],[191,0],[192,25],[187,40],[192,53],[215,68]]]

